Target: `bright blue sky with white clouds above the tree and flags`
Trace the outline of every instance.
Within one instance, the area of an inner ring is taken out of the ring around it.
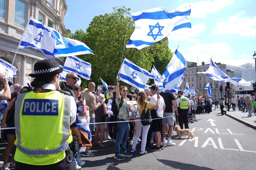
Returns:
[[[66,0],[65,27],[74,33],[86,31],[94,16],[125,6],[131,12],[164,7],[169,10],[191,4],[192,29],[172,32],[169,48],[179,51],[187,61],[201,65],[209,60],[240,66],[254,63],[256,51],[255,0]],[[93,49],[92,49],[93,50]]]

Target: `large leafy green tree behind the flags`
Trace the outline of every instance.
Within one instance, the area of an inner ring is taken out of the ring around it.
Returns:
[[[162,74],[172,57],[167,38],[141,50],[124,47],[134,31],[134,20],[129,8],[115,7],[113,10],[110,14],[95,16],[86,33],[80,29],[71,35],[72,39],[84,42],[95,54],[78,56],[92,65],[90,81],[101,85],[101,77],[108,85],[113,85],[124,58],[149,72],[154,64]],[[88,81],[82,82],[87,86]]]

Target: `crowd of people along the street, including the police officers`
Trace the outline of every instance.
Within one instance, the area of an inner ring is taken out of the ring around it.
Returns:
[[[116,160],[131,157],[137,150],[147,154],[146,148],[161,151],[165,146],[176,145],[171,140],[176,124],[189,129],[189,123],[197,121],[196,114],[212,112],[212,104],[215,109],[220,105],[222,114],[225,106],[230,107],[224,99],[213,102],[207,96],[184,96],[183,91],[160,92],[156,84],[129,93],[127,86],[119,86],[120,77],[116,86],[95,92],[94,82],[85,89],[77,86],[80,78],[74,72],[66,75],[66,86],[60,90],[62,71],[54,59],[38,61],[34,73],[29,74],[34,78],[31,87],[14,84],[12,94],[6,76],[0,74],[0,98],[8,104],[4,106],[2,102],[0,106],[1,127],[15,127],[4,131],[8,143],[2,170],[14,166],[17,170],[78,170],[85,165],[81,156],[95,156],[90,149],[105,148],[104,139],[114,143]],[[128,105],[132,100],[137,107]],[[250,96],[245,100],[233,96],[230,104],[233,110],[242,105],[243,111],[247,108],[251,115]],[[142,112],[148,109],[152,124],[142,125]],[[11,153],[14,157],[8,165]]]

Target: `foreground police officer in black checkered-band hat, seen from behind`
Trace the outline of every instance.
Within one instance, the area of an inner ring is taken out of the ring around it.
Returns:
[[[76,103],[70,93],[56,90],[59,64],[54,59],[36,62],[33,91],[16,100],[16,170],[74,170],[70,124],[76,120]]]

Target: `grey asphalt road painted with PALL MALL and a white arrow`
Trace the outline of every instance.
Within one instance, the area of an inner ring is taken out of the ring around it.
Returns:
[[[104,141],[106,148],[92,147],[94,157],[82,157],[86,162],[82,170],[252,170],[256,161],[256,131],[226,115],[213,110],[210,114],[196,115],[198,121],[189,123],[194,139],[178,139],[174,132],[172,141],[176,146],[161,151],[140,155],[137,151],[123,161],[115,160],[114,143]],[[4,147],[0,144],[0,160],[3,161]],[[129,145],[131,147],[131,145]],[[10,156],[11,157],[11,156]],[[15,168],[12,168],[15,170]]]

